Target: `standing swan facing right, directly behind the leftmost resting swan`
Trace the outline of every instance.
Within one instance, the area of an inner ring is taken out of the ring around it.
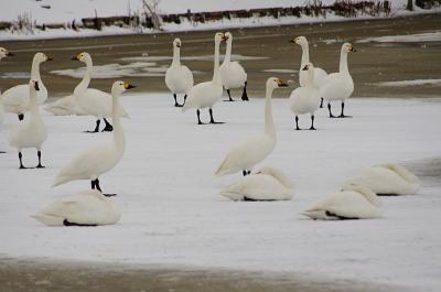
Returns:
[[[92,188],[101,192],[98,176],[114,169],[121,160],[126,150],[125,132],[119,120],[118,98],[126,89],[133,87],[123,82],[114,83],[111,87],[114,138],[108,142],[89,148],[77,155],[58,173],[52,186],[75,180],[90,180]]]

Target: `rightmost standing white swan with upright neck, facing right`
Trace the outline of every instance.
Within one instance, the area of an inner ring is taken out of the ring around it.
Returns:
[[[340,53],[340,72],[327,75],[320,87],[320,95],[327,101],[330,118],[335,118],[331,111],[331,101],[342,100],[342,113],[338,118],[346,118],[344,115],[344,101],[354,91],[354,82],[352,80],[349,69],[347,68],[347,53],[357,52],[349,43],[344,43]]]

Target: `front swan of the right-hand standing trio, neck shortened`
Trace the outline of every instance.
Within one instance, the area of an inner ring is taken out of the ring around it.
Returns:
[[[310,130],[315,130],[314,128],[314,112],[320,107],[320,93],[319,89],[314,87],[314,67],[311,63],[304,64],[301,72],[308,73],[305,78],[305,84],[303,87],[298,87],[292,90],[290,96],[290,108],[295,115],[295,130],[299,128],[299,115],[310,113],[311,115],[311,127]]]

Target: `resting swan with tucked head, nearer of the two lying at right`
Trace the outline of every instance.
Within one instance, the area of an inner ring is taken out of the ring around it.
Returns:
[[[347,185],[338,193],[323,196],[302,215],[312,219],[337,220],[377,218],[381,213],[381,202],[372,190]]]

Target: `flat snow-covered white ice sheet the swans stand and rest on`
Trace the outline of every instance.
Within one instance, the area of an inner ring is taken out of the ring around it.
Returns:
[[[323,109],[318,131],[294,131],[287,101],[273,99],[278,144],[261,165],[289,174],[295,196],[236,203],[217,193],[239,174],[213,179],[213,172],[232,143],[262,130],[262,99],[218,102],[215,118],[227,123],[197,126],[194,110],[173,108],[169,94],[121,97],[131,116],[123,120],[127,150],[100,183],[118,193],[122,218],[96,228],[49,228],[29,215],[87,190],[87,181],[50,186],[74,155],[110,133],[83,133],[94,128],[90,117],[44,113],[47,167],[19,170],[7,143],[17,117],[8,115],[0,136],[0,150],[8,151],[0,154],[0,256],[304,273],[439,291],[439,177],[421,177],[417,195],[384,197],[379,219],[313,221],[300,212],[365,166],[439,158],[441,99],[348,100],[345,112],[354,118],[329,119]],[[301,117],[303,128],[309,122]],[[25,165],[36,164],[34,150],[23,154]]]

